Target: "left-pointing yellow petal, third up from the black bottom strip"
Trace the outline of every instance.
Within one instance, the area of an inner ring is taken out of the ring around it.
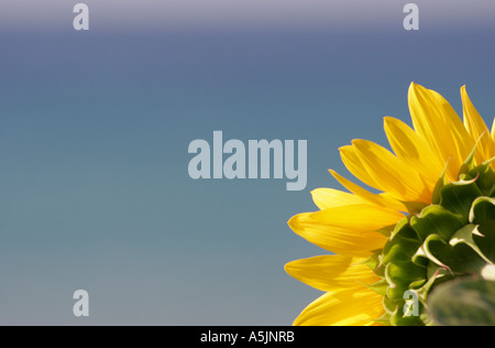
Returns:
[[[320,211],[318,211],[320,213]],[[352,257],[370,257],[374,250],[382,249],[386,238],[378,232],[355,232],[349,228],[322,222],[318,213],[304,213],[294,216],[288,225],[294,232],[309,242],[334,253]]]

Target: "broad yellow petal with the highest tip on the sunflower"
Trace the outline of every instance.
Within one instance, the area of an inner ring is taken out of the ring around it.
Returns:
[[[435,90],[413,83],[408,101],[416,132],[442,164],[449,163],[447,176],[455,180],[475,142],[450,104]]]

